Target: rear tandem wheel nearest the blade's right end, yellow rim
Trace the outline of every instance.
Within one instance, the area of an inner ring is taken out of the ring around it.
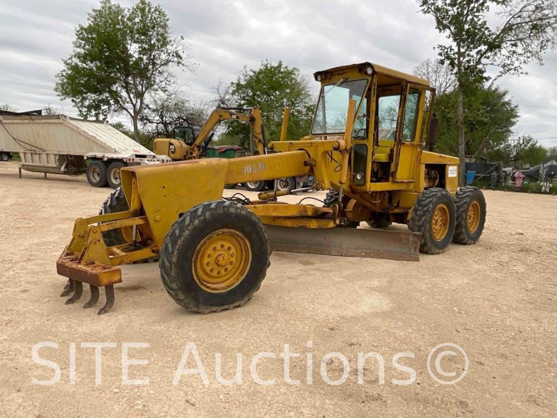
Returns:
[[[408,224],[412,232],[420,232],[420,251],[440,254],[455,234],[456,208],[451,194],[442,188],[424,190],[414,203]]]

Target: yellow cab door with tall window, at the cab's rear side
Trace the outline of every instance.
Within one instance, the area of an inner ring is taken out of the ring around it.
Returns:
[[[429,102],[429,103],[427,103]],[[413,84],[404,86],[402,103],[398,115],[397,137],[394,141],[392,165],[393,181],[412,183],[423,150],[422,130],[427,123],[432,102],[432,89]]]

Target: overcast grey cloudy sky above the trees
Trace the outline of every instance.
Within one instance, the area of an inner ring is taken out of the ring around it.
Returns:
[[[443,42],[433,18],[418,13],[414,0],[159,3],[175,35],[191,45],[198,69],[178,76],[187,94],[198,100],[210,98],[219,79],[230,82],[243,66],[258,67],[265,59],[282,60],[310,77],[316,70],[362,61],[412,72],[434,57],[433,47]],[[0,104],[20,110],[50,104],[76,115],[71,103],[60,102],[54,93],[54,76],[61,59],[71,53],[75,26],[85,23],[87,12],[97,5],[92,0],[0,0]],[[557,51],[546,55],[545,62],[500,84],[520,105],[517,133],[557,145]]]

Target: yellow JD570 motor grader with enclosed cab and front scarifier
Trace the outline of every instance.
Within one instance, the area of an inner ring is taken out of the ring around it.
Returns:
[[[260,288],[271,250],[418,260],[451,241],[474,244],[486,203],[473,187],[458,188],[458,158],[424,150],[434,142],[434,89],[427,80],[369,62],[315,73],[321,84],[310,135],[281,140],[273,153],[235,159],[193,159],[121,170],[128,210],[78,218],[57,261],[69,278],[66,303],[91,287],[114,303],[121,264],[160,256],[170,297],[198,313],[241,306]],[[262,149],[263,144],[260,142]],[[311,174],[329,189],[323,207],[223,198],[225,184]],[[184,182],[183,179],[195,179]],[[356,228],[366,221],[373,229]],[[408,225],[409,231],[388,228]],[[118,230],[124,242],[106,245]]]

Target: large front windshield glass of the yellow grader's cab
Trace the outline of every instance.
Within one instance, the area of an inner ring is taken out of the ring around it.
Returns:
[[[348,101],[356,100],[356,110],[364,96],[368,80],[344,79],[324,85],[319,94],[317,110],[311,125],[312,135],[343,133],[348,114]]]

